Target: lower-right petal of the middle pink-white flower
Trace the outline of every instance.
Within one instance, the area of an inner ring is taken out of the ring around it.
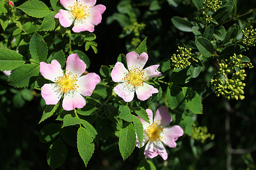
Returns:
[[[150,84],[143,83],[143,86],[138,86],[135,90],[139,100],[147,100],[152,94],[158,93],[158,90]]]

